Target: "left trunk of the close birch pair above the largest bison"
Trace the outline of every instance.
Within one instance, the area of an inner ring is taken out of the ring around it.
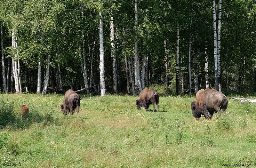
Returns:
[[[218,56],[217,56],[217,27],[216,27],[216,6],[215,0],[212,1],[212,13],[213,13],[213,40],[214,40],[214,89],[218,90]]]

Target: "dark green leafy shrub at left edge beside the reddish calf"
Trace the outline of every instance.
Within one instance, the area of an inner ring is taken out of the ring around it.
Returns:
[[[0,100],[0,128],[4,128],[7,124],[14,122],[15,118],[14,103]]]

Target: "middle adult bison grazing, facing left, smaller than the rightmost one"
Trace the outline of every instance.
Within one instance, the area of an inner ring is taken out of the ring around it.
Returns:
[[[140,99],[136,100],[137,109],[140,110],[143,106],[147,111],[149,104],[153,105],[153,112],[155,111],[155,102],[157,106],[157,112],[159,111],[159,95],[154,90],[149,90],[147,88],[143,89],[140,93]]]

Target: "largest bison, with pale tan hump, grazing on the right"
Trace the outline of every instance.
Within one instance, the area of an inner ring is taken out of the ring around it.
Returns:
[[[192,114],[196,120],[199,120],[201,116],[212,119],[214,112],[220,109],[226,110],[227,106],[227,97],[214,89],[201,89],[196,94],[196,101],[191,102]]]

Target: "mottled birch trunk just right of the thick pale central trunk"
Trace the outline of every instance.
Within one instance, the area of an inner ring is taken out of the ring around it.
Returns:
[[[110,20],[111,57],[113,60],[112,69],[113,69],[114,92],[117,93],[116,46],[115,46],[114,33],[115,33],[114,20],[113,20],[113,17],[111,16],[111,20]]]

